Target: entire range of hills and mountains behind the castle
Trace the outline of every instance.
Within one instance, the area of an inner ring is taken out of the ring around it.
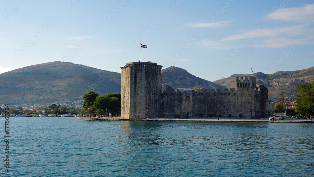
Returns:
[[[178,67],[161,70],[163,89],[167,85],[190,91],[194,87],[236,88],[234,74],[228,78],[210,82]],[[314,67],[297,71],[278,71],[267,75],[252,74],[257,84],[268,87],[268,98],[278,98],[280,86],[286,96],[293,97],[298,84],[314,80]],[[121,92],[121,74],[69,62],[49,62],[14,69],[0,74],[0,102],[8,104],[49,104],[83,99],[84,93],[93,90],[99,95]]]

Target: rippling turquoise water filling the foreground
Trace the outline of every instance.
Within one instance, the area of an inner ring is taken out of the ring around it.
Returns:
[[[2,136],[0,176],[313,176],[313,130],[303,123],[13,117],[10,172]]]

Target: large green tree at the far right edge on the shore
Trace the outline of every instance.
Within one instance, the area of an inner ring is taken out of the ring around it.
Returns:
[[[300,84],[296,89],[295,112],[303,115],[314,115],[314,82]]]

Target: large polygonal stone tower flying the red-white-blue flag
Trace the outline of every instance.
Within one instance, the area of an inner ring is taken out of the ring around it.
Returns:
[[[161,116],[161,65],[130,62],[121,67],[121,118]]]

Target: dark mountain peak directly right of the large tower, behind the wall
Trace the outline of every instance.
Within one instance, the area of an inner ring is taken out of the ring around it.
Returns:
[[[171,86],[174,90],[193,90],[194,87],[211,88],[225,88],[219,86],[208,80],[201,79],[187,72],[187,70],[178,67],[168,67],[161,70],[162,75],[162,88],[163,90],[167,85]]]

